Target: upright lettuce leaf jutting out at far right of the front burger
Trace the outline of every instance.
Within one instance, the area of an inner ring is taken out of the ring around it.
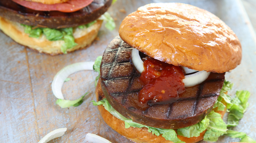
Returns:
[[[248,99],[250,92],[246,90],[240,90],[236,92],[236,98],[233,98],[231,103],[233,105],[230,108],[230,113],[227,119],[227,126],[237,126],[240,119],[243,118],[244,113],[249,106]]]

